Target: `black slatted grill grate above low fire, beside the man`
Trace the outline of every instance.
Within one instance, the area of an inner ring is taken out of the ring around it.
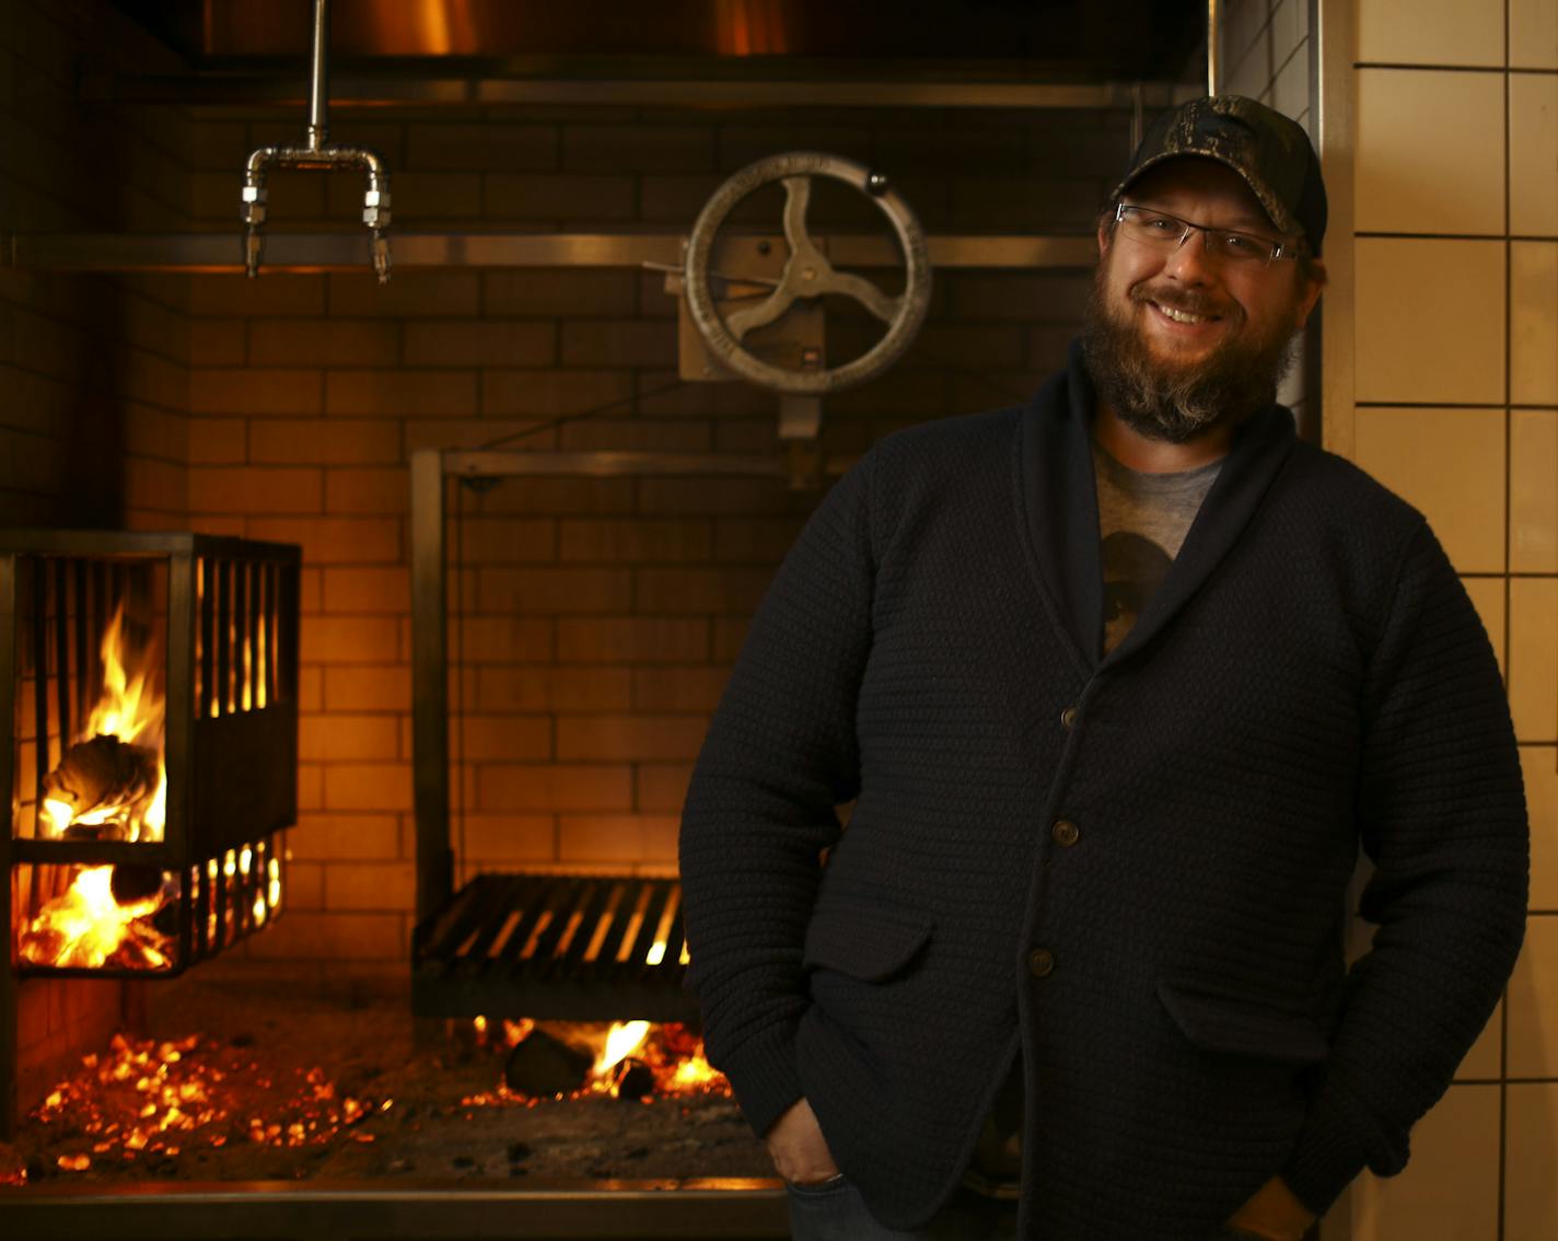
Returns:
[[[413,935],[422,1016],[696,1021],[676,879],[478,875]]]

